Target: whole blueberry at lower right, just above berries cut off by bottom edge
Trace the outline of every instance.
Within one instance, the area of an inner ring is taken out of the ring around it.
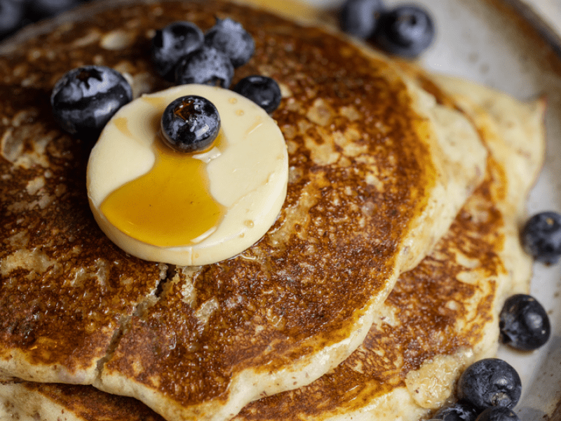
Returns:
[[[522,392],[520,376],[506,361],[482,359],[466,368],[458,381],[458,398],[484,410],[489,406],[513,408]]]

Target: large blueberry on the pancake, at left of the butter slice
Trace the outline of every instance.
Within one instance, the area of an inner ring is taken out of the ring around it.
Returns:
[[[59,79],[50,104],[65,131],[92,135],[132,99],[133,91],[119,72],[110,67],[83,66]]]

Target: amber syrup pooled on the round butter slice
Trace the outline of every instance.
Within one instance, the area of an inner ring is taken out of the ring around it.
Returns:
[[[122,131],[122,128],[121,128]],[[214,142],[219,147],[220,133]],[[111,192],[100,206],[114,227],[159,247],[189,246],[219,225],[226,208],[212,198],[205,163],[158,138],[151,170]]]

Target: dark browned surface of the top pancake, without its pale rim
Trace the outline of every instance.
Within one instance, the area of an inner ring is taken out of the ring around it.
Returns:
[[[398,245],[435,180],[429,151],[417,141],[426,121],[412,111],[393,70],[337,36],[243,6],[126,6],[25,41],[0,58],[0,357],[19,349],[33,363],[71,373],[95,363],[119,318],[133,314],[160,276],[158,265],[130,258],[97,229],[84,180],[88,147],[55,125],[48,104],[55,81],[94,62],[142,76],[146,91],[161,88],[149,62],[151,31],[180,19],[204,30],[216,15],[238,20],[255,39],[256,53],[236,80],[267,74],[290,90],[273,114],[288,142],[288,196],[257,245],[215,265],[180,270],[156,305],[126,324],[105,369],[186,406],[221,399],[233,372],[289,366],[341,340],[357,309],[387,287]],[[123,26],[136,34],[124,48],[100,46],[100,36]],[[358,152],[330,144],[332,133],[351,139]],[[43,162],[15,165],[43,138]],[[327,161],[314,156],[323,146],[333,152]],[[381,184],[369,184],[369,175]],[[34,191],[29,186],[38,177]],[[19,250],[53,265],[4,271]],[[191,303],[182,295],[187,280],[196,288]],[[211,299],[221,307],[205,329],[196,311]],[[311,337],[309,347],[294,347]]]

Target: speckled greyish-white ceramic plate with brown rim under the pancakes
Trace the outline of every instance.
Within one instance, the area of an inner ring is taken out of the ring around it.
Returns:
[[[309,2],[326,10],[341,3]],[[388,7],[399,3],[404,1],[385,1]],[[546,96],[546,160],[529,196],[527,213],[561,212],[561,38],[553,29],[553,20],[541,19],[534,7],[520,0],[414,3],[431,11],[437,27],[436,39],[422,55],[421,65],[483,83],[520,100]],[[551,1],[540,3],[555,6]],[[515,408],[520,418],[557,421],[561,420],[561,263],[550,267],[534,264],[531,294],[550,316],[550,340],[531,353],[500,347],[498,356],[520,373],[522,398]]]

